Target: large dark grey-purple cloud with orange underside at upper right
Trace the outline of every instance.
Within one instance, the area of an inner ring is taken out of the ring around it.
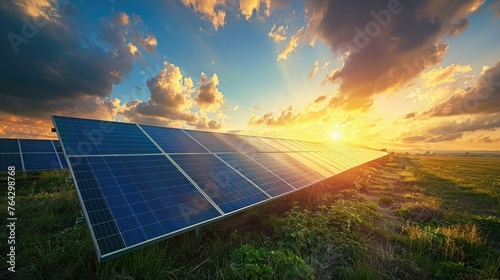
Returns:
[[[444,39],[463,31],[483,2],[311,0],[304,36],[316,36],[344,58],[326,81],[340,84],[340,105],[359,109],[440,63],[448,50]]]

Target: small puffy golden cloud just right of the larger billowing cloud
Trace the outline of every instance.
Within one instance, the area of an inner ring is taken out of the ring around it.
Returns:
[[[201,73],[200,88],[195,96],[196,105],[204,111],[216,112],[226,102],[222,92],[217,89],[219,77],[213,74],[210,79],[205,73]]]

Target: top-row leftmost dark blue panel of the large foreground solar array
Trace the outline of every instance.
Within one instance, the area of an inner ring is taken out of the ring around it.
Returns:
[[[54,122],[67,155],[160,153],[135,124],[58,116]]]

